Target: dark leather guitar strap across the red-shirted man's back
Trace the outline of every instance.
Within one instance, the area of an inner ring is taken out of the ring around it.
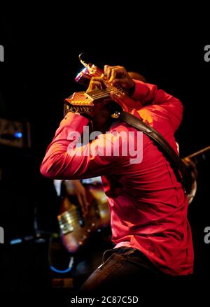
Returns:
[[[156,131],[153,127],[149,126],[136,116],[122,111],[118,117],[118,119],[126,122],[131,127],[144,132],[149,138],[151,138],[155,145],[158,145],[158,148],[162,151],[165,155],[167,160],[170,162],[172,169],[176,175],[177,180],[181,182],[183,187],[185,187],[186,192],[190,191],[190,186],[192,183],[192,177],[190,176],[190,172],[188,171],[186,164],[183,163],[179,155],[176,154],[174,148],[165,140],[165,138]]]

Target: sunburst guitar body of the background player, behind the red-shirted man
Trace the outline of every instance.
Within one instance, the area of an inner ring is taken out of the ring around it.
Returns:
[[[78,252],[80,246],[87,243],[92,232],[109,227],[109,206],[101,184],[85,185],[89,210],[85,217],[80,210],[78,202],[74,204],[69,197],[64,197],[61,213],[57,216],[59,221],[60,235],[66,250],[71,253]]]

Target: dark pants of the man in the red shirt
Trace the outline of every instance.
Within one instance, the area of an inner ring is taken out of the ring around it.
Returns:
[[[102,264],[85,281],[80,292],[136,294],[143,288],[183,279],[162,273],[136,248],[115,248],[104,252]]]

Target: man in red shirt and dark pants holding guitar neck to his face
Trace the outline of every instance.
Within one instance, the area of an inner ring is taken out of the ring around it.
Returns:
[[[69,112],[41,164],[41,173],[53,179],[102,176],[116,246],[104,253],[102,265],[83,290],[111,290],[116,285],[132,289],[145,278],[190,276],[193,242],[183,186],[148,136],[125,122],[109,120],[114,100],[156,129],[177,152],[174,133],[182,119],[181,101],[156,85],[133,80],[122,66],[104,66],[104,78],[123,87],[132,99],[111,92],[111,99],[96,103],[90,115],[94,129],[102,133],[83,145],[75,145],[72,136],[82,134],[89,119]],[[87,92],[106,87],[104,78],[92,78]]]

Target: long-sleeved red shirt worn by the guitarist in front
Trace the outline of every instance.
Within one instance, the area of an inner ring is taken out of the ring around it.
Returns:
[[[132,98],[144,107],[140,108],[137,102],[137,108],[132,104],[128,110],[158,130],[177,152],[174,132],[182,118],[181,102],[155,85],[137,80],[135,83]],[[100,134],[86,145],[71,146],[73,131],[82,134],[87,122],[81,115],[66,115],[48,146],[41,173],[49,178],[72,180],[102,176],[116,247],[141,250],[165,273],[193,273],[188,198],[162,152],[148,136],[139,135],[123,122],[116,122],[109,133]],[[127,155],[123,153],[127,140],[120,134],[122,131],[132,144],[136,142],[136,149],[140,142],[142,155],[137,163],[131,163],[134,157],[129,145]],[[109,155],[104,155],[105,144],[109,146]],[[118,151],[118,155],[113,155]]]

